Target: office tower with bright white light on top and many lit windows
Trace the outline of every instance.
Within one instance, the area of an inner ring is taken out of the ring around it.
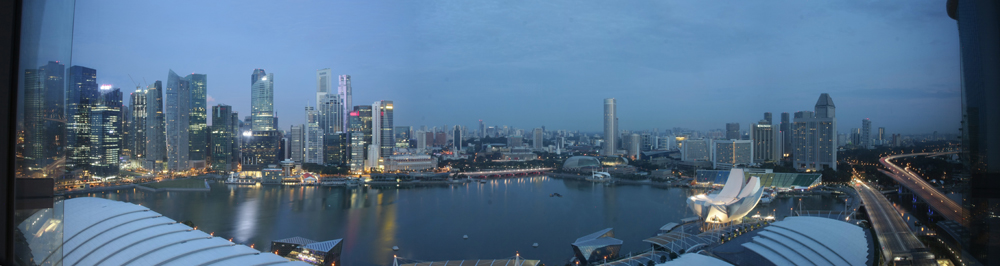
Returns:
[[[120,89],[101,86],[100,100],[90,110],[90,170],[97,177],[118,176],[121,152]]]

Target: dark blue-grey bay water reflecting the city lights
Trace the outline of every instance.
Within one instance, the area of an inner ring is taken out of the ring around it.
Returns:
[[[692,216],[684,188],[605,186],[549,177],[414,188],[235,186],[211,192],[122,190],[74,195],[146,206],[205,232],[268,251],[271,240],[301,236],[344,239],[344,265],[390,265],[392,256],[416,260],[498,259],[518,252],[547,265],[572,257],[570,243],[613,227],[623,253],[664,224]],[[559,193],[562,197],[550,197]],[[843,208],[827,196],[779,198],[753,213],[778,217],[790,208]],[[464,240],[463,235],[469,235]],[[532,248],[532,243],[538,248]],[[393,252],[392,246],[400,250]]]

